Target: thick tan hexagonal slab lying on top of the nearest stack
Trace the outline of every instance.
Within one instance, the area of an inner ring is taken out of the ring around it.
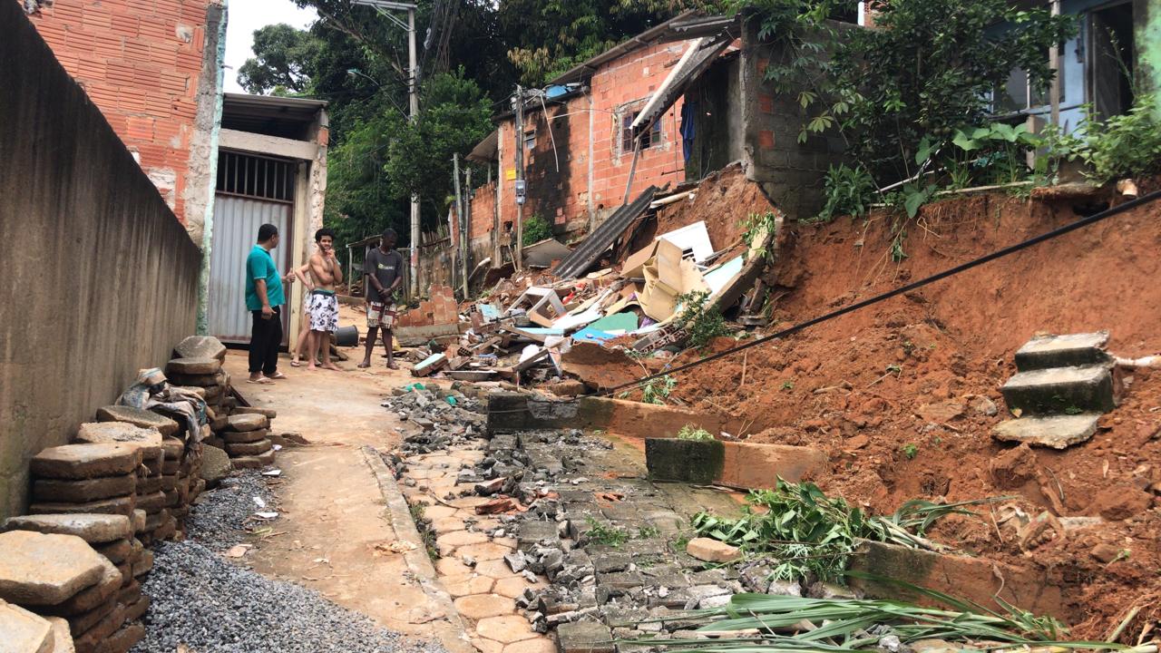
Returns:
[[[75,536],[0,533],[0,598],[57,605],[101,580],[108,560]]]

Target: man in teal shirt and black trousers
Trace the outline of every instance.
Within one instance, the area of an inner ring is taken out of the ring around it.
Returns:
[[[253,316],[250,332],[250,383],[269,383],[286,379],[279,372],[279,345],[282,344],[282,278],[271,250],[279,246],[279,228],[258,228],[258,244],[246,257],[246,309]]]

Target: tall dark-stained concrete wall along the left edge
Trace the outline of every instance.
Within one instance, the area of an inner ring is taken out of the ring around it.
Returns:
[[[19,3],[0,2],[0,33],[3,518],[35,453],[193,333],[201,254]]]

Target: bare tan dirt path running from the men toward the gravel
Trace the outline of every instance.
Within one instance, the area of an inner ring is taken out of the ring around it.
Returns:
[[[380,402],[410,374],[385,369],[377,356],[370,372],[355,369],[355,361],[340,364],[344,372],[308,372],[282,360],[280,369],[289,379],[265,386],[244,382],[245,351],[231,350],[225,363],[251,404],[277,410],[273,433],[300,433],[310,442],[279,452],[279,534],[261,540],[247,561],[265,575],[312,588],[385,627],[454,638],[452,622],[404,557],[376,548],[399,534],[362,447],[387,451],[398,443],[398,418]]]

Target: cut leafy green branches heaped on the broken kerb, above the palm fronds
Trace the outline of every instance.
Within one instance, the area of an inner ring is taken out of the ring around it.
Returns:
[[[873,516],[828,497],[813,483],[779,479],[772,490],[751,490],[745,514],[724,519],[701,512],[693,528],[704,537],[742,547],[750,554],[769,554],[777,560],[774,576],[791,580],[813,574],[842,581],[856,540],[886,541],[913,548],[943,550],[923,537],[937,519],[953,512],[972,515],[965,508],[985,501],[932,503],[913,500],[890,516]]]

